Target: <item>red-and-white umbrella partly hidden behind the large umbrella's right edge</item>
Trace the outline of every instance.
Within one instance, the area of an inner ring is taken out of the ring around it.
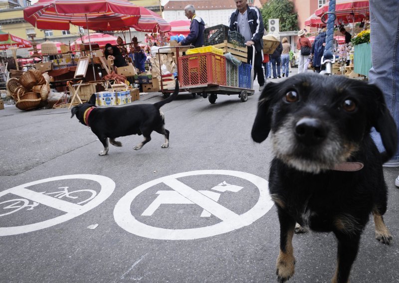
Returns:
[[[144,32],[167,32],[171,30],[171,25],[159,14],[145,7],[140,7],[140,19],[137,24],[132,25],[137,31]]]

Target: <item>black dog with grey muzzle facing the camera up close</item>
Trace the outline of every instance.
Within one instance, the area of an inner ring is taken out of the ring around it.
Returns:
[[[370,137],[375,127],[386,152]],[[269,83],[259,98],[252,139],[269,132],[275,157],[269,190],[280,222],[277,280],[294,275],[295,222],[338,239],[333,283],[347,283],[360,236],[374,216],[376,239],[389,244],[383,221],[387,186],[383,162],[396,151],[398,137],[379,88],[340,76],[299,74]]]

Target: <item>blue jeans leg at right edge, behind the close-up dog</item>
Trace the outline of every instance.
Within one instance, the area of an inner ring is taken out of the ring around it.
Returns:
[[[384,4],[381,4],[380,0],[370,0],[373,67],[369,72],[369,83],[376,84],[383,91],[387,107],[397,125],[399,125],[399,14],[395,15],[392,11],[398,10],[398,0],[386,0]],[[380,134],[374,128],[371,136],[378,149],[384,151]],[[391,160],[399,160],[399,146]]]

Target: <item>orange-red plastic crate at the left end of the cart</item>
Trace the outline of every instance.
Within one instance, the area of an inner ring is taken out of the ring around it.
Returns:
[[[226,85],[225,60],[224,56],[213,53],[179,57],[180,85]]]

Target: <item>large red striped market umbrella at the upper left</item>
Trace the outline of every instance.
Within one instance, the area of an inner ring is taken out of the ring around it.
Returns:
[[[40,29],[118,29],[136,24],[139,16],[140,8],[128,0],[39,0],[23,10],[23,18]]]

